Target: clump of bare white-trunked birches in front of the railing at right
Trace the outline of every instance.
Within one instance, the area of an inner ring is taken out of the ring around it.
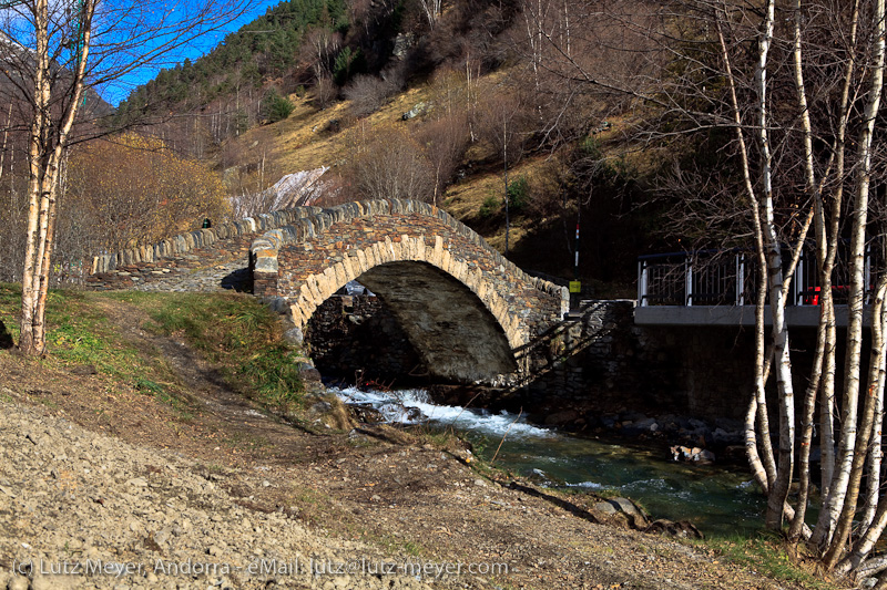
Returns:
[[[589,94],[642,101],[643,112],[622,111],[636,130],[635,145],[642,139],[648,149],[677,153],[706,146],[708,168],[687,174],[693,164],[674,159],[679,178],[700,179],[684,187],[679,211],[707,221],[706,246],[744,247],[757,261],[757,350],[745,432],[752,473],[767,496],[766,527],[788,525],[791,539],[808,544],[838,573],[887,571],[887,556],[876,548],[887,526],[880,444],[887,270],[883,256],[866,257],[886,238],[887,206],[873,190],[885,178],[885,0],[578,8],[570,11],[572,49],[543,32],[549,54],[540,63]],[[651,42],[645,51],[622,46],[636,62],[622,79],[589,58],[594,39],[579,33],[594,29],[595,19]],[[813,260],[819,298],[814,362],[804,371],[793,363],[795,332],[786,321],[802,256]],[[838,266],[842,282],[834,279]],[[846,306],[836,301],[835,287],[846,292]],[[842,314],[847,329],[839,339]],[[768,391],[777,424],[768,420]],[[807,507],[817,417],[820,499],[813,522]]]

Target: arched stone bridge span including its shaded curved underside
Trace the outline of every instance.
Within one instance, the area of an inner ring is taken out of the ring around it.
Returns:
[[[324,209],[254,240],[249,263],[254,293],[284,299],[299,329],[358,280],[398,315],[429,366],[453,380],[529,373],[527,351],[569,309],[567,289],[530,277],[473,230],[419,201]]]

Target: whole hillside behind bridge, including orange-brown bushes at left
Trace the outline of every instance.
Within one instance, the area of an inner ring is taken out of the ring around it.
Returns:
[[[207,216],[295,203],[281,187],[324,172],[303,199],[428,200],[528,270],[563,279],[577,272],[581,218],[580,277],[597,294],[630,294],[636,255],[663,240],[648,188],[665,166],[663,152],[635,149],[632,80],[662,64],[632,24],[652,4],[618,4],[604,14],[578,0],[282,2],[89,123],[108,134],[65,161],[59,268]],[[145,146],[166,155],[140,166]],[[0,221],[13,236],[23,235],[24,147],[10,135],[0,162],[11,204]],[[133,172],[95,165],[103,153]],[[191,183],[171,182],[186,169]],[[206,189],[188,201],[182,187],[194,183]],[[19,241],[2,252],[10,269]]]

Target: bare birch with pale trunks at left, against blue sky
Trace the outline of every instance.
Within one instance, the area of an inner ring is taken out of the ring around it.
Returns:
[[[113,131],[98,125],[108,110],[96,91],[120,84],[136,69],[174,59],[195,39],[251,8],[249,2],[225,2],[21,0],[0,11],[0,95],[13,110],[9,131],[28,137],[23,353],[45,350],[45,301],[65,151]]]

